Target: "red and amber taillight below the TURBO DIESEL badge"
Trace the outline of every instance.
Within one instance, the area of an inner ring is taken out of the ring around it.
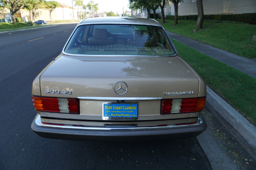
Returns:
[[[206,97],[186,99],[162,99],[161,114],[200,112],[205,105]]]

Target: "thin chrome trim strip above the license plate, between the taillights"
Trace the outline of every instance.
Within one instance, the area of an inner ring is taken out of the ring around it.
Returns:
[[[77,97],[78,99],[89,100],[157,100],[163,97]]]

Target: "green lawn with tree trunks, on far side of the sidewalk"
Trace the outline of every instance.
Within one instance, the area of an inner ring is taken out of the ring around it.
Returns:
[[[173,20],[163,24],[166,31],[189,37],[216,48],[229,51],[247,58],[256,58],[256,41],[253,35],[256,25],[204,22],[203,29],[194,32],[196,21],[179,20],[173,26]]]

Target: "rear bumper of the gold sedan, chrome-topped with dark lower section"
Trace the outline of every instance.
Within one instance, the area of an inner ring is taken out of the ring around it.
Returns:
[[[200,135],[207,128],[204,118],[200,115],[193,125],[177,125],[165,127],[74,127],[44,125],[38,114],[31,125],[39,136],[51,139],[85,140],[85,141],[145,141],[159,139],[189,138]]]

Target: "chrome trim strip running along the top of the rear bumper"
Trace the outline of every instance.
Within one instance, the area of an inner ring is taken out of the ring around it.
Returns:
[[[60,125],[44,125],[41,122],[41,116],[39,114],[37,114],[36,118],[35,118],[35,124],[38,126],[42,126],[42,127],[55,127],[55,128],[66,128],[66,129],[84,129],[84,130],[143,130],[143,129],[160,129],[160,128],[173,128],[173,127],[184,127],[184,126],[197,126],[197,125],[201,125],[203,123],[203,119],[201,117],[201,114],[198,116],[198,122],[192,125],[173,125],[173,126],[159,126],[159,127],[76,127],[76,126],[72,126],[72,125],[64,125],[64,126],[60,126]]]

